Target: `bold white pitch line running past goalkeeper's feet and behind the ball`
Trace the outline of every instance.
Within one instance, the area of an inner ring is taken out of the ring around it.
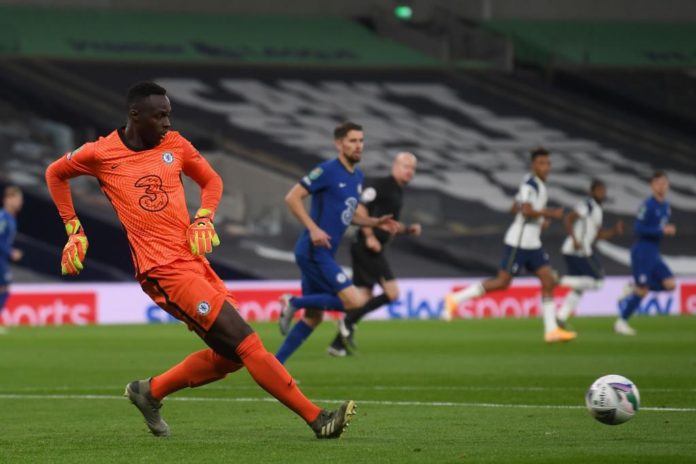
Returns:
[[[0,394],[0,400],[120,400],[123,396],[116,395],[26,395],[26,394]],[[275,398],[208,398],[198,396],[181,396],[167,398],[167,401],[191,401],[191,402],[222,402],[222,403],[268,403],[277,402]],[[340,399],[313,399],[314,402],[340,403]],[[451,401],[389,401],[389,400],[355,400],[358,404],[374,404],[378,406],[426,406],[426,407],[460,407],[460,408],[512,408],[512,409],[584,409],[580,405],[562,404],[505,404],[505,403],[457,403]],[[671,408],[671,407],[644,407],[641,411],[656,412],[696,412],[696,408]]]

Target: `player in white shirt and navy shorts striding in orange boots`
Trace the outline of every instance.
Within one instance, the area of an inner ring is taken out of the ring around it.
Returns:
[[[444,318],[450,319],[459,304],[485,293],[505,290],[512,277],[523,268],[541,281],[542,311],[544,316],[544,340],[547,343],[567,342],[576,337],[558,327],[553,289],[556,279],[549,265],[549,256],[541,247],[541,230],[551,219],[563,217],[563,208],[547,209],[546,178],[551,170],[550,153],[537,148],[531,153],[532,172],[528,174],[515,197],[512,212],[515,220],[505,234],[505,251],[498,275],[484,282],[445,296]]]

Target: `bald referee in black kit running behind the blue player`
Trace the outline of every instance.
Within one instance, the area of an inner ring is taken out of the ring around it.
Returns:
[[[412,153],[397,154],[391,175],[365,180],[358,208],[362,208],[363,213],[375,217],[391,214],[398,221],[403,190],[416,174],[416,163],[416,157]],[[397,233],[417,236],[421,233],[421,226],[401,224]],[[372,227],[361,227],[355,234],[350,248],[353,259],[353,283],[368,299],[372,297],[375,284],[382,287],[383,293],[362,308],[347,312],[345,318],[339,321],[338,334],[328,348],[331,356],[346,356],[349,354],[349,348],[355,349],[355,324],[367,313],[399,297],[399,287],[385,255],[390,239],[391,235],[388,232]]]

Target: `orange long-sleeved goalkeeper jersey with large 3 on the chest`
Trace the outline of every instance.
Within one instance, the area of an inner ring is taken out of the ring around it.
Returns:
[[[68,179],[96,177],[125,229],[138,275],[173,261],[199,259],[191,254],[186,240],[190,219],[182,173],[201,186],[200,207],[215,211],[222,180],[175,131],[169,131],[155,148],[135,151],[122,130],[115,130],[51,164],[46,183],[65,222],[76,216]]]

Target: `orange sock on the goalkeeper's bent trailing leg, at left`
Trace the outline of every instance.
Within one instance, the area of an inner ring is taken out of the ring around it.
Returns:
[[[161,400],[182,388],[200,387],[223,379],[241,368],[241,364],[223,358],[210,348],[196,351],[167,372],[153,377],[150,393],[156,400]]]

